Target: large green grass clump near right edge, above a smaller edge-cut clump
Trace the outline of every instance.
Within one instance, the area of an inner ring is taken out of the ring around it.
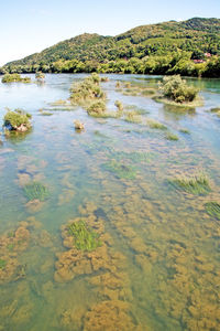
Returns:
[[[169,180],[169,183],[178,190],[180,189],[195,195],[206,195],[211,191],[209,180],[205,174],[198,174],[193,178],[179,177]]]

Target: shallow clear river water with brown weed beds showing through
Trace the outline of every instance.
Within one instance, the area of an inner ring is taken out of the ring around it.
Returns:
[[[118,81],[155,86],[160,77],[109,75],[102,84],[108,108],[116,110],[117,99],[141,108],[142,122],[132,124],[50,104],[67,99],[72,83],[84,76],[0,84],[0,122],[4,107],[33,115],[30,134],[1,137],[0,243],[19,226],[30,237],[25,247],[7,244],[9,253],[0,256],[24,270],[0,281],[0,330],[220,330],[220,221],[205,210],[205,203],[220,202],[220,118],[209,111],[220,106],[220,79],[189,79],[200,88],[204,106],[184,113],[116,89]],[[42,116],[41,108],[53,115]],[[145,124],[147,118],[166,125],[179,140],[165,139],[163,130]],[[75,131],[75,119],[85,131]],[[117,162],[125,174],[109,168]],[[167,183],[199,172],[210,180],[206,196]],[[26,179],[48,188],[44,203],[28,204]],[[74,264],[65,255],[61,226],[82,216],[97,217],[107,239],[100,266],[94,263],[88,271],[90,257],[82,267],[79,256],[69,279],[59,273],[61,264]],[[1,270],[0,265],[0,276]]]

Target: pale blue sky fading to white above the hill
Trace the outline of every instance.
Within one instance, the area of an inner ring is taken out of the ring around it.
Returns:
[[[220,19],[220,0],[0,0],[0,65],[89,32],[117,35],[143,24]]]

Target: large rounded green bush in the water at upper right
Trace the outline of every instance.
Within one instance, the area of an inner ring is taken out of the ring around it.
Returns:
[[[198,90],[186,84],[179,75],[165,76],[160,83],[163,95],[175,103],[191,103],[196,98]]]

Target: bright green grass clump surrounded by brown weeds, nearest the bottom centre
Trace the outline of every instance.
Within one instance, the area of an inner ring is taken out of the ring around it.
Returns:
[[[91,252],[101,246],[99,235],[88,227],[84,221],[74,222],[68,225],[68,233],[74,238],[74,245],[79,250]]]

